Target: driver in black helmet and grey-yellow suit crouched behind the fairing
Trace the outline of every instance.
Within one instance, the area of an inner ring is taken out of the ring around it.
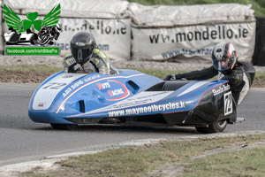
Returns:
[[[71,54],[64,58],[65,73],[118,73],[106,54],[97,49],[91,33],[78,32],[72,37],[70,44]]]

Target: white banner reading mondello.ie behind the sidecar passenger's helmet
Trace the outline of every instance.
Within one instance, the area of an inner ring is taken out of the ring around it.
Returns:
[[[254,53],[255,21],[172,28],[132,27],[132,33],[133,60],[183,56],[210,60],[212,49],[218,42],[232,42],[241,61],[250,62]]]

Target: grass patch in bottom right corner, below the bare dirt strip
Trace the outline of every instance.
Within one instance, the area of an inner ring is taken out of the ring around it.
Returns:
[[[264,176],[265,148],[224,151],[186,165],[183,176]]]

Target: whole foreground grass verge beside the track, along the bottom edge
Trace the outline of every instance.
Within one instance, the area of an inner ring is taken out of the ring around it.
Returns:
[[[263,176],[265,146],[262,135],[162,141],[144,146],[106,150],[57,162],[56,171],[21,173],[21,176]],[[227,147],[239,150],[225,150]],[[224,149],[224,151],[222,150]],[[220,151],[221,150],[221,151]],[[214,153],[215,152],[215,153]],[[197,157],[197,158],[196,158]],[[167,165],[167,167],[163,167]],[[167,168],[170,167],[170,172]],[[182,168],[182,172],[174,170]],[[157,170],[158,169],[158,170]],[[173,172],[172,172],[173,171]]]

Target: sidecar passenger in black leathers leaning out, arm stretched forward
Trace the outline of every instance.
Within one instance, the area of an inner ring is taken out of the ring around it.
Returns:
[[[167,75],[164,80],[169,81],[172,78],[186,80],[208,80],[217,76],[218,80],[227,80],[230,82],[232,95],[237,104],[240,104],[250,87],[250,80],[246,76],[244,62],[239,62],[237,51],[231,42],[217,43],[212,51],[213,65],[190,73],[177,73]]]

